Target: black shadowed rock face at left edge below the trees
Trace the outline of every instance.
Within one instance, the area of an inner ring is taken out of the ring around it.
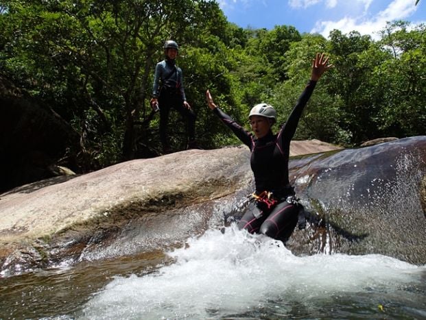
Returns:
[[[53,177],[49,167],[78,141],[53,113],[24,97],[0,97],[0,192]]]

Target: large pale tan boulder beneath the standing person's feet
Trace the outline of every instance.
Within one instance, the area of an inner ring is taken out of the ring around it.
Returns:
[[[327,149],[339,147],[318,140],[296,141],[291,153]],[[114,251],[109,256],[132,254],[202,232],[213,211],[221,207],[233,212],[234,204],[246,199],[252,188],[249,156],[246,147],[182,151],[3,193],[1,269],[19,273],[61,260],[81,260],[96,255],[100,246],[105,252],[107,245],[115,247],[108,250]],[[174,229],[176,223],[180,226]],[[150,236],[129,251],[129,243],[138,236],[128,236],[127,245],[121,246],[117,234],[133,234],[134,225],[140,225],[138,234]]]

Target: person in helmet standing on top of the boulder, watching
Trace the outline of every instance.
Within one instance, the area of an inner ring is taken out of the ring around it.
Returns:
[[[163,153],[170,153],[171,148],[167,137],[167,122],[169,111],[174,108],[188,120],[187,149],[197,149],[195,140],[196,114],[189,106],[185,97],[182,69],[176,66],[178,44],[167,40],[164,44],[165,60],[158,62],[155,67],[154,85],[152,88],[151,107],[160,111],[160,139]]]

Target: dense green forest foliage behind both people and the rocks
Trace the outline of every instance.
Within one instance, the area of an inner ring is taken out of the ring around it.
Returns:
[[[318,51],[335,65],[311,97],[298,139],[357,145],[426,132],[425,25],[388,23],[380,40],[334,30],[242,29],[213,0],[0,1],[0,73],[71,123],[92,169],[158,154],[158,115],[149,99],[164,40],[180,47],[200,145],[237,143],[206,107],[215,101],[239,123],[267,101],[285,121]],[[176,114],[174,144],[185,145]]]

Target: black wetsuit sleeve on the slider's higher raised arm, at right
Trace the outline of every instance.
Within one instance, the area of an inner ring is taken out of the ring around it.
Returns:
[[[278,134],[277,142],[280,144],[281,150],[287,149],[285,146],[289,146],[290,141],[292,140],[294,134],[296,133],[297,125],[299,123],[300,116],[302,115],[303,109],[305,109],[307,101],[313,93],[313,89],[316,86],[316,81],[309,80],[305,90],[300,95],[294,106],[292,112],[290,113],[287,121],[284,123],[283,127]]]

